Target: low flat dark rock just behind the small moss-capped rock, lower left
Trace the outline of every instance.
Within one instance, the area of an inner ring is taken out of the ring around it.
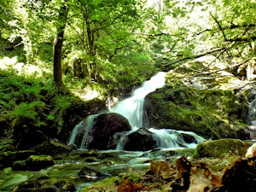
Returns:
[[[46,141],[32,148],[36,154],[68,154],[72,148],[54,140]]]

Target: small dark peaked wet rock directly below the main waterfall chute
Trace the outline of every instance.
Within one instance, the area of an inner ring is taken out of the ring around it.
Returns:
[[[148,151],[157,147],[152,133],[146,128],[140,128],[126,136],[124,149],[127,151]]]

